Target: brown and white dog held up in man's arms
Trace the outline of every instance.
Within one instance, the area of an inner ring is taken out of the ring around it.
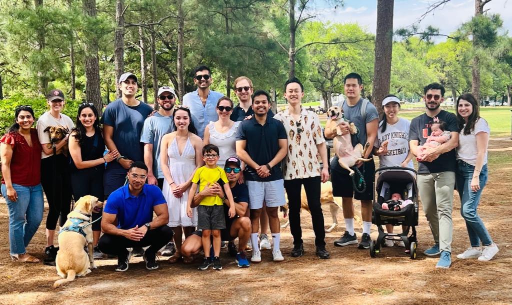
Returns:
[[[354,175],[354,171],[351,169],[355,165],[357,161],[370,161],[370,159],[362,158],[366,154],[366,151],[370,148],[370,145],[366,143],[363,148],[360,143],[357,143],[356,146],[352,146],[352,140],[350,138],[351,134],[357,133],[357,128],[355,127],[353,122],[345,119],[343,115],[343,109],[338,106],[332,106],[327,111],[330,119],[327,120],[325,125],[326,130],[330,130],[330,132],[336,131],[336,136],[333,139],[334,145],[334,153],[338,156],[339,166],[346,169],[350,172],[350,176]],[[342,131],[339,129],[338,125],[342,122],[346,122],[349,124],[350,134],[342,134]]]

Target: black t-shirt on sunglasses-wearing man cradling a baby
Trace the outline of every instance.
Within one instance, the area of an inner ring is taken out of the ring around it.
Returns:
[[[417,140],[419,145],[426,143],[426,139],[432,132],[430,127],[435,121],[445,122],[447,125],[447,131],[459,132],[457,127],[457,118],[455,114],[441,110],[438,115],[434,118],[423,113],[411,121],[411,127],[409,129],[409,141]],[[437,159],[432,162],[419,162],[418,174],[430,174],[430,173],[441,173],[441,172],[455,172],[456,170],[456,154],[455,149],[447,153],[439,155]]]

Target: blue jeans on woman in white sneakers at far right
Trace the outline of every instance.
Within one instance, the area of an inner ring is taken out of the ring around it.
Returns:
[[[482,167],[480,172],[480,190],[473,192],[471,190],[471,179],[475,167],[462,160],[457,162],[457,191],[460,196],[460,215],[466,221],[467,234],[470,236],[472,247],[480,247],[480,241],[484,246],[493,243],[489,232],[485,228],[482,219],[478,216],[477,208],[480,203],[480,196],[487,183],[487,165]]]

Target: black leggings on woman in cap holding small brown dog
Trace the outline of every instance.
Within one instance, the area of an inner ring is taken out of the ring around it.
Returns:
[[[60,226],[68,220],[71,208],[71,176],[68,158],[65,155],[53,155],[41,160],[41,184],[48,200],[46,228],[55,230],[60,216]]]

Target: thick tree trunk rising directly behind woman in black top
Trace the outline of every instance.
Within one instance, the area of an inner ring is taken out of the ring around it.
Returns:
[[[83,12],[91,18],[96,18],[96,0],[83,0]],[[94,35],[89,33],[89,35]],[[86,65],[86,101],[94,103],[98,109],[99,115],[103,113],[103,103],[101,101],[101,92],[99,85],[99,59],[98,59],[98,40],[91,37],[89,42],[83,46]]]

